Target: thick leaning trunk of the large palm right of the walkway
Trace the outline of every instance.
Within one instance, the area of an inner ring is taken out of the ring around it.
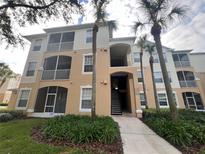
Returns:
[[[176,107],[176,104],[175,104],[175,101],[174,101],[174,98],[173,98],[172,87],[171,87],[171,84],[170,84],[170,81],[169,81],[167,67],[166,67],[166,64],[165,64],[165,61],[164,61],[160,35],[155,33],[153,36],[154,36],[157,52],[158,52],[158,55],[159,55],[159,61],[160,61],[160,66],[161,66],[162,75],[163,75],[163,79],[164,79],[165,89],[166,89],[166,92],[167,92],[167,98],[168,98],[168,102],[169,102],[171,116],[172,116],[173,120],[177,120],[177,117],[178,117],[177,107]]]

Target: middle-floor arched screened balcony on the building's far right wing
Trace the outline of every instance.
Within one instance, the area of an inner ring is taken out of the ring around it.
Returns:
[[[181,87],[197,87],[193,72],[179,71],[177,76]]]

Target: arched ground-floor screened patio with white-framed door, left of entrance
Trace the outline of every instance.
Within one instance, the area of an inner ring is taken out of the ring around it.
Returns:
[[[65,113],[67,89],[50,86],[38,90],[34,112]]]

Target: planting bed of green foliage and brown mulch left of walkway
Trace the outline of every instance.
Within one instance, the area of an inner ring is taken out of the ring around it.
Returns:
[[[40,143],[79,148],[93,153],[121,154],[118,124],[110,117],[59,116],[34,127],[32,138]]]

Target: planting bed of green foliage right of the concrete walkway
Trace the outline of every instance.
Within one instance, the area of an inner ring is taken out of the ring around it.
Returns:
[[[144,110],[143,122],[182,153],[205,153],[205,113],[179,110],[174,122],[168,110]]]

